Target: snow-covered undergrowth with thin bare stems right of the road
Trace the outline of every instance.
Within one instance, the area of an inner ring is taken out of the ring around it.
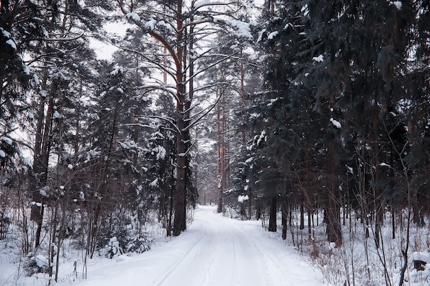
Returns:
[[[298,214],[294,225],[298,225]],[[324,277],[333,285],[399,285],[401,267],[404,265],[402,251],[407,242],[407,212],[403,213],[402,222],[396,223],[395,237],[392,236],[392,214],[385,213],[384,226],[381,229],[380,247],[376,248],[374,239],[374,222],[366,226],[352,212],[346,215],[343,227],[343,243],[336,247],[335,243],[328,243],[326,239],[326,224],[315,221],[308,235],[308,217],[305,214],[305,227],[298,230],[295,227],[288,230],[287,243],[294,244],[297,250],[313,258]],[[398,217],[396,217],[398,219]],[[341,219],[343,221],[343,219]],[[430,254],[429,254],[429,226],[422,228],[411,223],[409,230],[408,262],[403,285],[430,285]],[[366,238],[366,228],[369,237]],[[279,230],[278,230],[279,233]],[[423,270],[416,270],[414,259],[429,263]]]

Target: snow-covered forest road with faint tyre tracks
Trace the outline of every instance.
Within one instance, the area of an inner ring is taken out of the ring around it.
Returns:
[[[117,257],[89,270],[80,286],[319,286],[321,274],[271,238],[256,222],[241,222],[200,206],[179,237],[138,257]]]

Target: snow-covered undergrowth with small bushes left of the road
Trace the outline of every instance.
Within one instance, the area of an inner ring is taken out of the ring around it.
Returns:
[[[55,243],[49,243],[52,234],[46,226],[42,230],[41,245],[35,251],[27,253],[23,247],[25,244],[33,245],[36,225],[30,222],[27,225],[27,234],[24,234],[23,219],[19,211],[10,210],[8,217],[12,223],[8,226],[8,232],[4,239],[0,240],[0,285],[54,285],[66,283],[70,285],[74,281],[80,281],[87,277],[87,271],[91,267],[102,266],[106,261],[112,261],[124,256],[133,257],[142,252],[157,247],[170,240],[161,223],[157,220],[157,214],[148,218],[148,224],[142,229],[144,235],[140,237],[128,237],[126,244],[118,241],[119,237],[102,237],[104,246],[95,249],[93,257],[84,248],[84,243],[79,235],[67,234],[60,251]],[[56,234],[58,236],[58,233]],[[84,239],[83,239],[84,240]],[[53,251],[49,252],[49,248]],[[58,282],[54,282],[55,266],[58,257]],[[49,282],[49,265],[52,265],[53,274]],[[97,266],[98,265],[98,266]]]

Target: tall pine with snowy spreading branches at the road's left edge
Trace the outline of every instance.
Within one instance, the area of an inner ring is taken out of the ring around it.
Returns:
[[[133,2],[132,2],[133,3]],[[165,3],[126,3],[119,2],[120,10],[129,21],[135,24],[131,29],[131,38],[142,43],[144,36],[149,36],[147,45],[139,45],[133,49],[127,49],[138,53],[152,66],[164,75],[167,75],[169,82],[163,83],[155,80],[155,85],[147,85],[146,88],[158,88],[167,91],[176,103],[176,111],[173,118],[164,118],[170,123],[170,128],[176,132],[176,190],[174,191],[174,224],[173,235],[177,236],[186,228],[186,206],[187,193],[195,193],[192,186],[192,174],[190,168],[190,152],[192,150],[192,139],[190,129],[201,120],[206,112],[192,115],[192,102],[194,94],[205,87],[195,88],[194,80],[196,76],[214,67],[214,64],[205,66],[207,58],[216,58],[219,54],[213,54],[215,47],[205,47],[199,49],[199,43],[208,36],[219,30],[217,25],[229,22],[223,16],[231,14],[229,5],[208,4],[192,1],[190,5],[185,5],[182,0]],[[212,5],[219,5],[223,12],[216,12]],[[147,8],[150,9],[147,9]],[[152,14],[154,8],[161,11],[159,14]],[[221,17],[221,15],[223,15]],[[218,17],[219,16],[219,17]],[[214,18],[219,18],[214,20]],[[236,26],[238,23],[235,22]],[[244,23],[245,24],[245,23]],[[159,47],[163,52],[159,53]],[[155,57],[146,56],[146,50],[155,52]],[[203,46],[202,46],[203,47]],[[166,56],[168,55],[168,56]],[[231,55],[221,56],[221,62]]]

